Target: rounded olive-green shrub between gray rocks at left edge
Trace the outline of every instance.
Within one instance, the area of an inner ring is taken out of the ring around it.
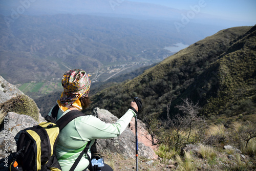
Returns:
[[[33,99],[27,95],[18,95],[0,105],[0,110],[4,115],[14,112],[20,115],[28,115],[39,121],[39,109]],[[2,118],[1,118],[2,120]]]

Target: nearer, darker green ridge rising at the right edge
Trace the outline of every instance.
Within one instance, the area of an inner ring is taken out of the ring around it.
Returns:
[[[194,87],[200,92],[205,114],[237,114],[255,113],[256,103],[256,27],[249,30],[235,42],[227,52],[220,56],[200,77],[204,83],[196,83]],[[211,73],[216,74],[209,77]],[[199,81],[198,81],[199,82]],[[195,89],[187,91],[194,92]],[[185,93],[184,93],[185,94]],[[218,110],[216,110],[218,109]]]

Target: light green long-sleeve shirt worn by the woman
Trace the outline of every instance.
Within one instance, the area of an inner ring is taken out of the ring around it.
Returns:
[[[70,110],[58,111],[57,120]],[[52,111],[48,115],[51,114]],[[59,134],[56,144],[56,157],[61,169],[68,171],[86,144],[91,141],[90,148],[95,139],[118,137],[136,114],[129,109],[116,123],[105,123],[95,116],[80,116],[67,124]],[[91,151],[88,151],[91,157]],[[80,160],[75,170],[83,170],[89,165],[86,154]]]

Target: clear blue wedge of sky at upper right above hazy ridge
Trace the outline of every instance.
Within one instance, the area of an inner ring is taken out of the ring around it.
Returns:
[[[167,7],[191,10],[190,6],[202,3],[204,7],[200,9],[202,13],[221,16],[223,19],[240,20],[244,22],[254,22],[256,24],[256,1],[255,0],[129,0],[133,2],[143,2],[159,4]]]

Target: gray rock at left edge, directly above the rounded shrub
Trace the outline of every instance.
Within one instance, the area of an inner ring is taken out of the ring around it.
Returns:
[[[11,98],[20,94],[23,94],[23,92],[17,89],[13,84],[6,81],[0,75],[0,103],[10,100]]]

